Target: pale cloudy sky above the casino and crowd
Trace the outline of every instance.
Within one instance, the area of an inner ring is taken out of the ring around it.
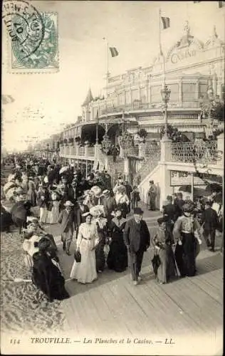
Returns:
[[[103,93],[107,68],[107,38],[119,56],[110,58],[111,75],[152,65],[159,53],[159,7],[170,18],[162,32],[162,50],[169,51],[183,35],[206,41],[216,25],[224,38],[224,9],[218,1],[29,1],[38,11],[58,14],[58,73],[9,73],[9,43],[3,24],[2,94],[14,103],[4,106],[2,142],[7,150],[24,150],[74,123],[89,87]],[[29,112],[29,113],[28,113]]]

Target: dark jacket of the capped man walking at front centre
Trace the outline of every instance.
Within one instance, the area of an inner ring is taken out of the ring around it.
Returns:
[[[123,231],[123,238],[125,245],[130,245],[131,252],[146,251],[150,246],[150,231],[144,220],[141,220],[139,224],[136,223],[135,218],[128,220]]]

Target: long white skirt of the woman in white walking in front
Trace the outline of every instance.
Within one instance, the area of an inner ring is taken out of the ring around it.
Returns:
[[[91,283],[97,279],[95,250],[91,250],[93,242],[82,239],[80,243],[81,261],[73,262],[70,278],[80,283]]]

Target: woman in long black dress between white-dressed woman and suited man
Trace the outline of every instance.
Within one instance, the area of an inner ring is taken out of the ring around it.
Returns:
[[[125,228],[126,219],[122,217],[120,209],[115,210],[115,218],[110,222],[111,244],[108,253],[108,268],[115,272],[123,272],[128,266],[127,247],[123,241],[123,229]]]

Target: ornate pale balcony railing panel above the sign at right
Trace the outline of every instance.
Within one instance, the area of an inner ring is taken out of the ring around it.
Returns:
[[[216,164],[220,159],[217,141],[175,142],[171,144],[171,161]]]

